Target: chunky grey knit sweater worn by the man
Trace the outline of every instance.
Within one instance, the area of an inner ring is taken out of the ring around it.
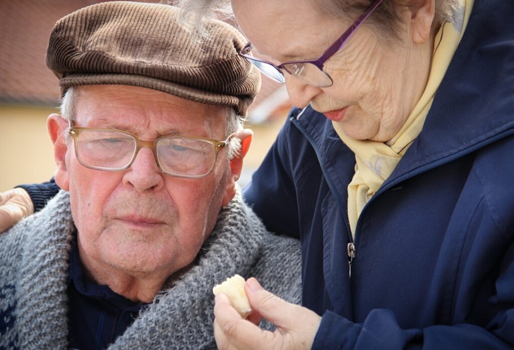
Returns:
[[[68,260],[75,231],[68,193],[61,191],[41,212],[0,235],[0,349],[66,348]],[[164,287],[109,349],[215,348],[213,284],[234,273],[253,276],[299,303],[300,261],[299,242],[266,232],[236,196],[219,214],[196,264]]]

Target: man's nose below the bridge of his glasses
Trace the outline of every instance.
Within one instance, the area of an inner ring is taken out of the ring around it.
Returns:
[[[143,147],[123,175],[123,184],[132,185],[138,192],[158,191],[164,186],[164,178],[151,149]]]

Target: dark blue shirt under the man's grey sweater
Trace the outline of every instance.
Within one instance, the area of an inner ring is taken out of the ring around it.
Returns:
[[[135,303],[84,273],[79,249],[70,253],[68,276],[70,349],[105,349],[132,324],[144,303]]]

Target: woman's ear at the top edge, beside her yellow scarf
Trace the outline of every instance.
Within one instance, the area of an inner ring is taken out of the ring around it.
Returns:
[[[430,38],[435,15],[435,0],[417,0],[410,7],[412,40],[423,44]]]

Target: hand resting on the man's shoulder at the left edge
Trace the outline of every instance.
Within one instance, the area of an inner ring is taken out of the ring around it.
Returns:
[[[0,232],[34,212],[29,194],[22,188],[0,193]]]

